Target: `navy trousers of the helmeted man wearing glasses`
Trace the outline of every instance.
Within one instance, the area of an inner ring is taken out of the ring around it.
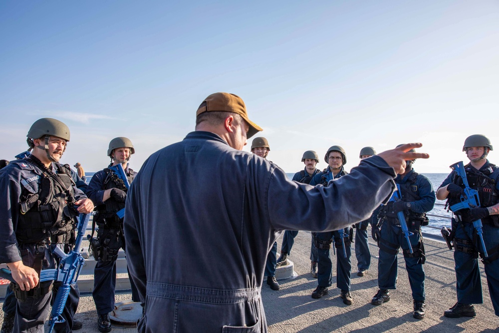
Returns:
[[[345,228],[344,232],[349,234],[350,227]],[[317,233],[317,240],[329,241],[332,238],[339,239],[338,231]],[[316,240],[316,243],[318,243]],[[348,240],[348,238],[346,239]],[[348,241],[349,243],[349,241]],[[341,245],[341,241],[339,243]],[[332,282],[332,262],[329,249],[317,249],[317,282],[320,287],[329,287]],[[350,291],[350,282],[352,274],[352,264],[350,258],[352,256],[351,246],[345,246],[346,258],[343,254],[343,247],[340,246],[336,251],[336,286],[341,290]]]

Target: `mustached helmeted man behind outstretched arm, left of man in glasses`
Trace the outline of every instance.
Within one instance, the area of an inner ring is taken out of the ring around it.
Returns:
[[[313,176],[320,173],[315,166],[319,163],[319,156],[313,150],[307,150],[303,153],[301,161],[305,164],[305,169],[294,174],[293,179],[298,183],[310,184]],[[298,230],[286,230],[282,237],[281,255],[277,259],[276,267],[288,265],[287,256],[291,253],[294,244],[294,238],[298,235]],[[317,248],[315,247],[315,233],[312,233],[312,245],[310,248],[310,274],[317,278]]]

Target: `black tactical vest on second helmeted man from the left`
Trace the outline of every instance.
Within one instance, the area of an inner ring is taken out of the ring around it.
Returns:
[[[128,191],[123,180],[113,170],[104,169],[104,172],[106,173],[106,178],[104,179],[103,190],[117,188],[125,193]],[[132,183],[134,178],[135,172],[128,168],[128,182]],[[104,225],[108,228],[118,228],[123,223],[123,220],[116,213],[123,208],[125,208],[124,202],[118,202],[113,197],[110,197],[104,204],[97,206],[97,213],[94,216],[95,223],[97,223],[99,228],[102,228]]]

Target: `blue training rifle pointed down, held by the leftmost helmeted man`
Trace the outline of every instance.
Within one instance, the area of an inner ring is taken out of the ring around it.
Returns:
[[[61,286],[57,290],[57,295],[52,306],[52,312],[50,313],[50,320],[48,322],[50,326],[50,330],[48,331],[49,333],[53,331],[56,323],[65,322],[61,314],[64,310],[64,306],[66,305],[69,291],[71,290],[70,286],[78,280],[81,268],[85,262],[85,259],[80,254],[80,248],[81,241],[83,240],[83,232],[87,228],[89,220],[90,214],[80,214],[77,227],[78,236],[76,236],[74,249],[68,254],[65,254],[59,247],[54,247],[52,253],[60,258],[58,268],[42,270],[40,272],[40,282],[51,280],[54,282],[61,282]],[[2,268],[0,270],[0,276],[15,283],[12,278],[12,274],[7,269]]]

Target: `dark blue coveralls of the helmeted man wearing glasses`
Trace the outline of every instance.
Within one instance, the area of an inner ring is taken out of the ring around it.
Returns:
[[[322,184],[326,185],[332,179],[338,179],[341,176],[347,175],[348,173],[341,167],[341,171],[333,178],[333,173],[330,168],[327,167],[326,171],[322,171],[315,175],[310,181],[310,185]],[[350,291],[350,281],[352,275],[352,263],[350,258],[352,256],[351,252],[351,242],[350,242],[350,232],[352,227],[346,227],[343,232],[348,235],[344,238],[345,242],[345,252],[346,258],[343,253],[343,246],[340,238],[340,231],[328,231],[317,233],[315,235],[315,244],[318,246],[319,243],[329,242],[331,239],[334,240],[336,247],[336,286],[345,291]],[[319,287],[330,287],[332,282],[332,262],[329,253],[329,248],[320,249],[317,248],[318,260],[317,260],[317,283]]]

